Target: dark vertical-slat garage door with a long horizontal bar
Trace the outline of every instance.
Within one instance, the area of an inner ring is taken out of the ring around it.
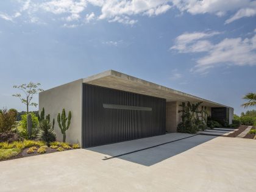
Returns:
[[[83,85],[84,148],[165,134],[166,100]]]

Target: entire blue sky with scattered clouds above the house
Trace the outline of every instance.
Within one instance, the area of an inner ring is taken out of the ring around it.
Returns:
[[[249,0],[2,0],[0,107],[26,110],[13,85],[114,69],[240,114],[256,91],[255,21]]]

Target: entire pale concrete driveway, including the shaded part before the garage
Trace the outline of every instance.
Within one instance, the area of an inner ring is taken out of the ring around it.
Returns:
[[[255,159],[256,140],[171,133],[0,162],[0,191],[255,191]]]

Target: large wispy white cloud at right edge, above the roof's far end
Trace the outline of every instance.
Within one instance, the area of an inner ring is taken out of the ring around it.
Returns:
[[[207,35],[205,36],[204,32],[182,34],[176,38],[176,44],[171,49],[176,49],[179,52],[205,53],[204,56],[196,60],[196,65],[192,69],[192,71],[199,73],[205,73],[207,69],[219,65],[256,65],[256,35],[244,40],[242,38],[226,38],[216,44],[211,43],[209,40],[202,40],[202,38],[210,38],[209,34],[214,33],[208,33],[208,37]],[[201,35],[196,36],[195,34]],[[186,38],[184,37],[194,38],[187,38],[187,41],[185,41]],[[188,43],[179,41],[180,38]]]

